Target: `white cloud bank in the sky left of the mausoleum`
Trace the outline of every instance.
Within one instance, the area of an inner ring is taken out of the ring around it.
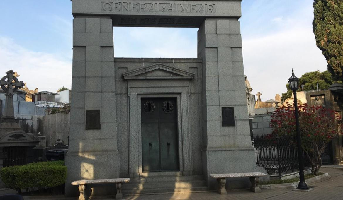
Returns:
[[[63,85],[71,88],[71,62],[59,55],[35,52],[0,36],[0,77],[8,70],[16,71],[29,89],[56,92]]]

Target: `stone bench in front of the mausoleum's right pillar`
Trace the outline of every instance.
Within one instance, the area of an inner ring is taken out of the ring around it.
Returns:
[[[267,174],[255,172],[255,173],[232,173],[232,174],[210,174],[210,177],[216,178],[218,183],[218,193],[221,195],[226,194],[225,178],[238,178],[238,177],[250,177],[251,188],[253,192],[260,192],[260,176],[267,176]]]

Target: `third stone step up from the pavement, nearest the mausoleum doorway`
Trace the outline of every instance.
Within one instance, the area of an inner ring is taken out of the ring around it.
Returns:
[[[188,182],[203,180],[203,175],[194,176],[149,176],[142,178],[130,178],[130,183],[151,183],[151,182]]]

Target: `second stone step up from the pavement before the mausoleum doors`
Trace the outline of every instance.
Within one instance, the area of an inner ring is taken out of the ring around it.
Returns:
[[[149,188],[191,188],[206,186],[204,180],[193,180],[190,182],[146,182],[146,183],[125,183],[123,189],[149,189]]]

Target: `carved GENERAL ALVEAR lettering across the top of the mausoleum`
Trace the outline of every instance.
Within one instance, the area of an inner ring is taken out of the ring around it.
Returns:
[[[212,3],[131,3],[126,1],[102,1],[103,11],[127,12],[184,12],[184,13],[215,13]]]

